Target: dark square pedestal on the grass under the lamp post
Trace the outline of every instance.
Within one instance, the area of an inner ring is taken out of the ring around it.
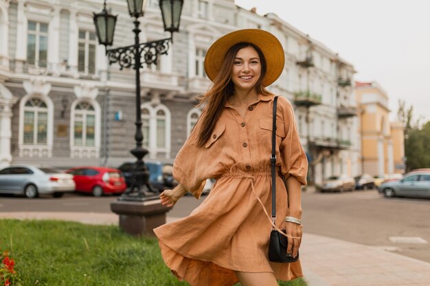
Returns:
[[[143,202],[111,203],[111,211],[120,215],[120,228],[134,236],[155,235],[153,229],[166,224],[166,213],[170,209],[153,198]]]

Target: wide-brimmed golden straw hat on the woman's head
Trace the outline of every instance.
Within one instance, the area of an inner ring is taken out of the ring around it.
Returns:
[[[205,71],[210,80],[214,80],[221,69],[225,54],[237,43],[247,42],[259,47],[267,62],[267,72],[263,80],[264,86],[269,86],[279,78],[284,69],[284,49],[278,38],[262,29],[240,29],[218,38],[207,50],[205,56]]]

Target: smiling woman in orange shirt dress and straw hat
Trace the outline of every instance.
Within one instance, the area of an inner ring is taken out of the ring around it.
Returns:
[[[272,263],[267,258],[274,96],[264,87],[283,69],[282,45],[260,29],[231,32],[207,51],[205,71],[214,84],[201,98],[207,104],[174,161],[179,185],[161,193],[161,203],[172,206],[187,191],[199,198],[207,178],[216,178],[216,184],[190,216],[154,230],[164,261],[190,285],[275,286],[277,278],[302,276],[299,261]],[[276,120],[280,176],[275,225],[286,230],[287,252],[295,257],[302,238],[300,192],[308,163],[293,107],[284,97],[278,99]],[[284,221],[287,216],[297,222]]]

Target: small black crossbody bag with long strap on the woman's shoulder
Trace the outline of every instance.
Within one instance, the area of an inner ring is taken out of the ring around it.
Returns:
[[[272,222],[275,224],[276,219],[276,105],[278,97],[275,96],[273,99],[273,125],[272,125],[272,154],[270,162],[272,166]],[[285,232],[285,230],[282,230]],[[286,237],[278,232],[275,228],[272,228],[269,240],[269,261],[290,263],[295,262],[299,259],[299,254],[293,257],[286,254],[286,247],[288,246],[288,240]]]

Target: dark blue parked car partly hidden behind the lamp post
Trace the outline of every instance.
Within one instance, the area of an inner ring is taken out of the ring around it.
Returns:
[[[133,166],[134,162],[123,163],[118,169],[126,180],[127,187],[132,187],[133,184]],[[145,160],[145,165],[149,171],[149,182],[156,191],[172,189],[177,186],[177,180],[174,180],[172,175],[173,165],[161,163],[157,160]]]

